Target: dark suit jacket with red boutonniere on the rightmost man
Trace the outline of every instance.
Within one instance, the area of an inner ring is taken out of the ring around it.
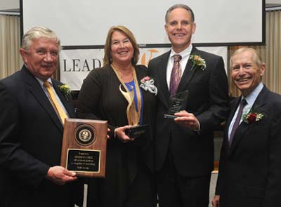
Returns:
[[[260,121],[242,121],[228,145],[228,128],[240,102],[231,102],[231,112],[221,149],[216,194],[221,207],[281,206],[281,96],[266,86],[254,102]]]

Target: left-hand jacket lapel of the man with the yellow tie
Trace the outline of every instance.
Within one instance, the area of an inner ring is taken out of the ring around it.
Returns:
[[[58,119],[58,116],[55,113],[55,110],[53,109],[51,102],[48,100],[46,94],[44,93],[37,79],[34,78],[34,76],[28,71],[26,67],[23,67],[21,72],[22,72],[23,80],[27,84],[27,88],[30,91],[30,93],[34,95],[34,98],[37,99],[41,107],[43,107],[46,110],[46,112],[49,114],[49,116],[51,116],[51,119],[53,120],[55,125],[58,126],[61,132],[63,132],[63,125],[62,123],[60,123],[60,119]]]

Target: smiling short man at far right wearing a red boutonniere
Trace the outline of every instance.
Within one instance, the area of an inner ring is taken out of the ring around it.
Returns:
[[[281,206],[281,96],[261,83],[254,49],[235,51],[230,69],[242,96],[231,102],[213,206]]]

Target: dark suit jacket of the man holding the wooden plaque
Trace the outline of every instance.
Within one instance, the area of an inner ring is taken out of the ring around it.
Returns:
[[[72,103],[58,89],[60,82],[52,81],[68,114],[74,117]],[[48,168],[60,165],[63,125],[25,66],[0,81],[0,105],[0,166],[7,176],[5,206],[73,206],[73,183],[59,186],[45,178]]]

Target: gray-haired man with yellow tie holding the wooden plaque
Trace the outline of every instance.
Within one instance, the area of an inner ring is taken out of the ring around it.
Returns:
[[[74,189],[76,173],[59,166],[64,119],[44,86],[48,81],[65,116],[73,117],[72,103],[60,91],[62,84],[51,79],[59,51],[60,41],[51,29],[30,29],[20,48],[25,65],[0,81],[4,206],[73,207],[74,197],[83,193]]]

